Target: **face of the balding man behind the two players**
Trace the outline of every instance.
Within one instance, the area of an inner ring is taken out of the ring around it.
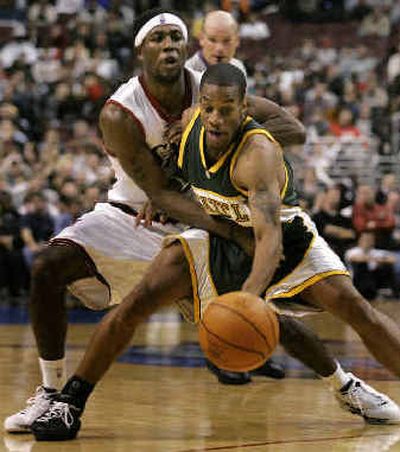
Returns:
[[[239,37],[233,27],[209,24],[201,33],[199,42],[208,64],[229,63],[239,45]]]

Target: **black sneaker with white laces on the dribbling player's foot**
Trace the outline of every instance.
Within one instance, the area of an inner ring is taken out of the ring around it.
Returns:
[[[50,408],[31,425],[37,441],[67,441],[74,439],[81,428],[82,410],[71,397],[60,394]]]

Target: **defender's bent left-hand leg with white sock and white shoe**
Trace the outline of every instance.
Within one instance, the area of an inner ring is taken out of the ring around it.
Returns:
[[[6,431],[29,432],[33,420],[49,407],[50,396],[64,385],[65,290],[71,282],[91,275],[87,258],[73,245],[50,245],[34,262],[30,314],[43,382],[23,410],[6,418]]]

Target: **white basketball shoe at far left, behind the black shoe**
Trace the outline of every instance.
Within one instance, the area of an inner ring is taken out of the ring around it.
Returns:
[[[32,422],[50,407],[51,398],[56,394],[55,389],[44,386],[36,388],[35,395],[27,400],[26,407],[4,421],[4,429],[9,433],[29,433]]]

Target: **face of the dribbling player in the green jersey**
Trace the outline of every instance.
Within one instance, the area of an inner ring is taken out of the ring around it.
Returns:
[[[207,148],[216,152],[228,149],[245,117],[239,88],[205,83],[200,92],[200,115]]]

